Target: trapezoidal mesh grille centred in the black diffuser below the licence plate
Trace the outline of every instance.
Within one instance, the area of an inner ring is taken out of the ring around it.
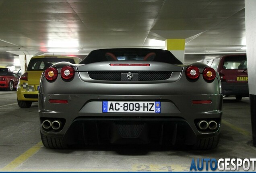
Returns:
[[[140,131],[143,128],[143,124],[138,125],[116,125],[120,135],[122,137],[138,137],[140,135]]]

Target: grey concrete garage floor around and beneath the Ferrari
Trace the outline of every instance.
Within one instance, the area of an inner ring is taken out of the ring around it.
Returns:
[[[0,91],[0,171],[189,171],[197,158],[256,158],[252,146],[249,98],[224,98],[221,139],[210,151],[159,147],[43,147],[37,103],[17,104],[16,92]]]

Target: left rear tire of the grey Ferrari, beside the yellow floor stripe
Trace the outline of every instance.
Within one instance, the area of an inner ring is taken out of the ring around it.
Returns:
[[[41,132],[41,140],[43,142],[43,145],[46,148],[50,149],[68,149],[68,145],[64,144],[62,139],[60,138],[54,138],[54,137],[48,137],[43,135]]]

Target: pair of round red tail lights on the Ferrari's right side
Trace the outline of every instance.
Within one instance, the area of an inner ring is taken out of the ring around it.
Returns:
[[[211,82],[215,79],[216,72],[211,67],[205,67],[202,72],[202,75],[204,80]],[[186,76],[192,80],[198,79],[200,76],[199,68],[197,66],[188,66],[186,69]]]

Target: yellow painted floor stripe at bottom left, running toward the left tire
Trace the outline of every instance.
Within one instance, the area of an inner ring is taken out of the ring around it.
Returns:
[[[14,171],[15,168],[17,168],[19,165],[24,163],[29,157],[34,155],[39,149],[43,147],[43,143],[40,141],[33,147],[31,147],[29,150],[27,150],[25,153],[21,154],[19,157],[14,159],[11,163],[6,165],[4,168],[0,169],[0,171]]]

